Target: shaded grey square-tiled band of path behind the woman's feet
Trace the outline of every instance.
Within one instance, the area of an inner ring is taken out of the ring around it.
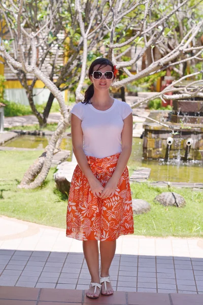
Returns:
[[[0,259],[2,286],[89,287],[82,253],[1,250]],[[203,294],[202,268],[203,259],[116,254],[110,275],[115,291]]]

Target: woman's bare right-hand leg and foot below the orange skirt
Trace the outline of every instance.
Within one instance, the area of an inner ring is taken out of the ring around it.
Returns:
[[[116,240],[100,241],[100,256],[101,256],[101,274],[102,278],[109,276],[109,268],[116,252]],[[114,292],[111,283],[107,282],[107,291],[104,283],[101,286],[103,294],[112,294]]]

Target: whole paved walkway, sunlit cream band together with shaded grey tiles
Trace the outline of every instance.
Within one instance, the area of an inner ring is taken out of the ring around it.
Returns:
[[[81,241],[4,216],[0,269],[0,286],[81,290],[90,283]],[[203,294],[203,239],[120,236],[110,275],[115,291]]]

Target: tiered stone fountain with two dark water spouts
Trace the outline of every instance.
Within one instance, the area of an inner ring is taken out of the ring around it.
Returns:
[[[144,124],[143,157],[147,159],[180,159],[203,161],[203,101],[173,101],[172,111],[154,110]]]

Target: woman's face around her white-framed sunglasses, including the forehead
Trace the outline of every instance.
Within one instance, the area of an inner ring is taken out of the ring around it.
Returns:
[[[107,71],[112,71],[112,67],[111,66],[106,66],[106,67],[100,67],[100,65],[96,65],[93,68],[93,71],[100,71],[102,73],[105,73]],[[104,75],[101,76],[100,79],[94,79],[92,75],[90,75],[90,80],[93,83],[94,87],[97,90],[109,90],[109,87],[111,86],[111,84],[113,83],[114,77],[112,79],[106,79]]]

